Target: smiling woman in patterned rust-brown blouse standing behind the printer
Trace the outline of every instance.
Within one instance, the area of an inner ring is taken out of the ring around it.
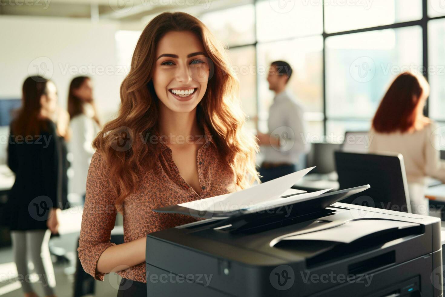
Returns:
[[[138,40],[119,114],[94,140],[78,248],[95,279],[122,277],[118,296],[147,296],[148,233],[195,221],[152,209],[259,182],[259,148],[244,129],[229,65],[223,44],[183,12],[156,16]],[[125,243],[116,245],[109,238],[117,212]]]

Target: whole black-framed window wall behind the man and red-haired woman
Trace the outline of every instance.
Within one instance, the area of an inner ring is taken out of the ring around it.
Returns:
[[[273,99],[266,73],[274,60],[292,65],[289,85],[311,134],[368,130],[389,84],[407,70],[428,78],[425,113],[445,122],[445,0],[243,3],[198,17],[227,45],[243,108],[260,130]]]

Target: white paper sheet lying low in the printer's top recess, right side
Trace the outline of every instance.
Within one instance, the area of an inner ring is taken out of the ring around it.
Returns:
[[[284,237],[283,240],[327,240],[351,243],[360,237],[388,228],[406,228],[418,225],[417,223],[393,220],[354,220],[334,228]]]

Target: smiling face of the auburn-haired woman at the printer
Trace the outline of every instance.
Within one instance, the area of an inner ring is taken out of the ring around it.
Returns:
[[[158,42],[153,85],[159,100],[174,112],[190,112],[204,97],[210,59],[189,31],[170,31]]]

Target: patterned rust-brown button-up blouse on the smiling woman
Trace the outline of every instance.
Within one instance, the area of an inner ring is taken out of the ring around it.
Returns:
[[[156,166],[140,177],[139,186],[123,203],[124,240],[146,237],[150,232],[196,221],[181,214],[152,211],[153,208],[185,203],[238,191],[235,173],[218,153],[209,128],[198,149],[198,178],[201,195],[179,174],[172,151],[164,142],[156,144]],[[116,200],[109,179],[109,168],[99,152],[93,155],[88,171],[85,206],[79,239],[79,259],[82,267],[96,280],[103,281],[105,273],[96,274],[97,260],[110,243],[110,232],[116,220]],[[146,283],[145,263],[117,272],[121,277]]]

